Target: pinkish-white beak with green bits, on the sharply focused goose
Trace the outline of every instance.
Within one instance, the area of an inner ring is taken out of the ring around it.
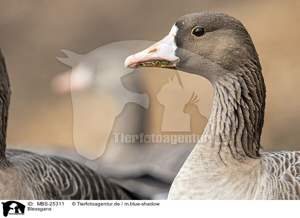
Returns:
[[[174,37],[175,34],[170,32],[147,49],[128,56],[124,62],[125,67],[174,67],[179,60],[175,55],[177,46]]]

